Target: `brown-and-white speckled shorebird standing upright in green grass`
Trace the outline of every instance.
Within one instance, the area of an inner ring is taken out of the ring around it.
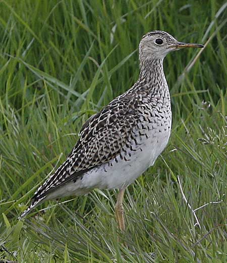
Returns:
[[[136,83],[87,119],[65,162],[36,190],[19,219],[47,200],[87,194],[94,188],[119,189],[115,213],[118,228],[126,229],[125,189],[154,164],[171,135],[171,97],[163,59],[186,47],[204,46],[179,42],[160,30],[142,37]]]

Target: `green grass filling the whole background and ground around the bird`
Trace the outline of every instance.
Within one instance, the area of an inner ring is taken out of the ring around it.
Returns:
[[[18,222],[83,121],[137,80],[137,46],[154,29],[206,47],[165,59],[173,132],[127,189],[124,244],[117,191]],[[227,262],[226,29],[224,1],[0,2],[0,261]]]

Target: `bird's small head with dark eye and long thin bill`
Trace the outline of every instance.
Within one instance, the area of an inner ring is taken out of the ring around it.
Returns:
[[[201,44],[179,42],[172,35],[164,31],[151,31],[144,35],[140,41],[140,59],[163,59],[168,52],[184,47],[204,46]]]

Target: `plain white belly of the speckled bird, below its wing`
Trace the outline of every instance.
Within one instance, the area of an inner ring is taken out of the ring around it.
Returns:
[[[164,150],[169,136],[170,129],[157,136],[151,136],[138,147],[137,151],[131,153],[131,157],[126,157],[127,161],[118,156],[117,161],[116,159],[112,160],[86,172],[76,182],[70,181],[50,193],[46,199],[85,194],[93,188],[121,189],[123,186],[131,184],[154,164],[156,158]]]

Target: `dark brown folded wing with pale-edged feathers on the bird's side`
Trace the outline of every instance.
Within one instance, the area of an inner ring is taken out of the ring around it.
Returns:
[[[37,189],[33,203],[37,203],[37,200],[43,199],[68,181],[76,181],[85,172],[121,154],[138,122],[135,109],[139,99],[133,96],[116,98],[84,123],[80,139],[71,154]]]

